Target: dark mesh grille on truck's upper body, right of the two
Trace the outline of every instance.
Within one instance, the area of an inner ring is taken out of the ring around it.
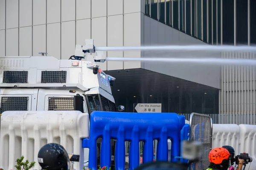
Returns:
[[[66,83],[67,71],[42,71],[41,83]]]

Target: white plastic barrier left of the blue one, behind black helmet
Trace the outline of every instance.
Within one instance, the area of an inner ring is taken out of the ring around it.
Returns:
[[[81,170],[84,150],[81,139],[89,136],[89,115],[80,111],[6,111],[1,116],[0,168],[15,169],[16,159],[22,155],[35,161],[34,170],[41,170],[38,151],[44,144],[61,144],[68,153],[80,155]]]

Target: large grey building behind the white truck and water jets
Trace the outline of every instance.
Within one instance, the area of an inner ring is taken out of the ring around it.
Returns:
[[[100,6],[99,6],[100,4]],[[255,0],[0,0],[0,55],[39,52],[68,59],[95,46],[254,45]],[[107,57],[250,58],[253,53],[107,51]],[[117,105],[162,103],[162,112],[210,114],[218,123],[255,124],[255,66],[108,61]],[[218,119],[217,119],[218,118]]]

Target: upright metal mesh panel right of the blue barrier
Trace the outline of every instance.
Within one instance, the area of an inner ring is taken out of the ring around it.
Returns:
[[[191,141],[201,142],[202,155],[201,159],[197,162],[192,163],[192,170],[207,169],[209,162],[209,152],[212,150],[212,122],[208,115],[192,113],[190,118],[190,137]]]

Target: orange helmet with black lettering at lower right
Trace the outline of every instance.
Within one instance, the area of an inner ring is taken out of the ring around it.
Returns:
[[[221,164],[223,160],[228,160],[230,153],[224,147],[215,147],[209,153],[209,161],[214,164]]]

